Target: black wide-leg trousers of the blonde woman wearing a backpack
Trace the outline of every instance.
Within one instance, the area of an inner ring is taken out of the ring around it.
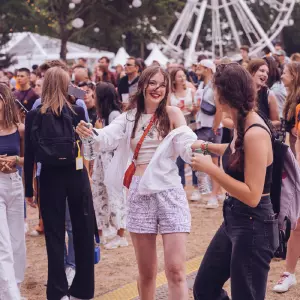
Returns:
[[[79,299],[94,297],[95,218],[86,169],[42,166],[40,175],[41,214],[48,254],[47,299],[65,295]],[[65,216],[68,199],[73,227],[76,275],[68,291],[64,269]]]

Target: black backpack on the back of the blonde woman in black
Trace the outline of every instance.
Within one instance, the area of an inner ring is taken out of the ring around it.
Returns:
[[[72,112],[63,107],[61,115],[37,109],[31,128],[31,139],[36,162],[42,165],[63,167],[71,165],[76,158],[76,138]]]

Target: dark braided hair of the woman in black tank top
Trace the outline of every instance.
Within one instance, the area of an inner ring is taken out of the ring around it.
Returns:
[[[255,109],[256,89],[252,76],[238,63],[220,64],[213,77],[213,86],[219,102],[238,111],[235,153],[230,167],[242,171],[244,168],[244,134],[246,117]]]

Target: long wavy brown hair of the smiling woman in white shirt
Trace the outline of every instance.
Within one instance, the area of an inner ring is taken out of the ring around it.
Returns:
[[[167,113],[167,101],[170,93],[170,77],[169,74],[160,66],[150,66],[145,69],[138,81],[137,92],[130,97],[130,104],[127,110],[137,109],[134,126],[131,134],[131,138],[135,137],[138,121],[143,113],[145,113],[145,91],[149,86],[149,81],[157,73],[161,73],[164,76],[166,83],[166,94],[162,101],[159,103],[156,109],[156,127],[161,137],[166,137],[171,129],[169,115]]]

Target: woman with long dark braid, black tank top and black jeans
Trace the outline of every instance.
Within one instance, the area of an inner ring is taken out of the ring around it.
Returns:
[[[226,191],[224,222],[198,271],[195,300],[264,300],[270,262],[278,241],[278,222],[270,200],[273,150],[268,125],[255,112],[256,89],[239,64],[220,65],[213,78],[216,101],[234,124],[230,144],[196,142],[192,148],[222,156],[224,171],[210,156],[194,154],[192,167],[212,176]]]

